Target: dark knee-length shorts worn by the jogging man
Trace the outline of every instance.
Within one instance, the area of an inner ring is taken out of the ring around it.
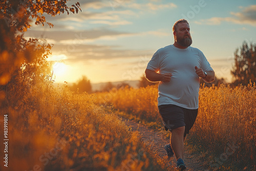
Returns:
[[[194,125],[198,109],[186,109],[175,104],[162,104],[158,106],[162,116],[165,130],[172,131],[177,127],[185,126],[184,137]]]

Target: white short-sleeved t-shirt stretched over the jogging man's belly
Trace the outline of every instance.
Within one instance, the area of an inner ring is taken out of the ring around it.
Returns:
[[[175,104],[186,109],[198,109],[200,83],[195,66],[212,71],[203,52],[197,48],[179,49],[169,45],[153,55],[147,69],[173,74],[170,82],[159,82],[158,105]]]

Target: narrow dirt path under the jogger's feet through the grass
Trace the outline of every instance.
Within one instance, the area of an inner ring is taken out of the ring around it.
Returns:
[[[173,170],[172,168],[176,166],[176,158],[171,157],[169,160],[167,160],[167,154],[163,147],[165,144],[169,143],[168,138],[165,138],[160,132],[150,129],[142,124],[138,124],[133,120],[127,120],[124,118],[122,118],[122,120],[125,121],[126,125],[131,126],[132,131],[139,131],[142,135],[142,140],[146,144],[152,145],[153,151],[156,152],[161,159],[163,159],[167,165],[167,169]],[[184,151],[184,162],[187,166],[186,171],[207,171],[203,169],[203,167],[200,165],[200,162],[196,160],[195,156],[191,156],[188,153],[188,149],[186,149],[186,147]]]

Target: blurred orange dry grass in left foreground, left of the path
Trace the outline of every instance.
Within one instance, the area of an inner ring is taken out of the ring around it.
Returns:
[[[1,161],[0,170],[163,170],[111,106],[27,76],[19,73],[0,90],[9,138],[8,168]]]

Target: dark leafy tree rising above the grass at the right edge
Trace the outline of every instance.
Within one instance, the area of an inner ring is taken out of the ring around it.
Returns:
[[[245,41],[240,49],[234,52],[234,66],[231,70],[233,76],[233,84],[247,85],[256,81],[256,45]]]

